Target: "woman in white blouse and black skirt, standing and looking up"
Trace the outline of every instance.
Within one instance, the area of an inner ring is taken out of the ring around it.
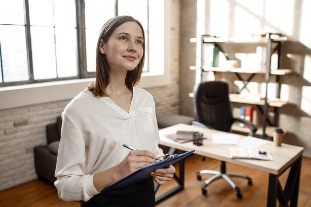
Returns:
[[[163,156],[154,99],[136,86],[143,72],[144,41],[141,23],[131,16],[114,17],[102,27],[95,81],[62,113],[55,186],[64,201],[81,201],[81,207],[155,206],[153,177],[98,194]],[[163,184],[174,172],[170,166],[152,175]]]

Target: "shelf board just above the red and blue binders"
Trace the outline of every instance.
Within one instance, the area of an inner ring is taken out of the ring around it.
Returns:
[[[265,104],[264,99],[251,100],[251,99],[247,99],[246,97],[240,96],[237,93],[229,94],[229,98],[231,102],[235,102],[235,103],[245,103],[245,104],[261,105],[261,106]],[[288,103],[289,101],[283,101],[279,98],[268,99],[268,105],[272,107],[283,107],[287,105]]]

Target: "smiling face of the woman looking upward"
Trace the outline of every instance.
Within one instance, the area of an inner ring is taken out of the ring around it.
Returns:
[[[99,52],[106,55],[110,70],[135,69],[143,57],[143,32],[134,21],[117,27],[108,41],[101,40]]]

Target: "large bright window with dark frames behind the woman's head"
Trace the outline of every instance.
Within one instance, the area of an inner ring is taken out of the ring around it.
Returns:
[[[0,0],[0,86],[94,77],[100,29],[116,15],[142,23],[144,72],[163,73],[164,0]]]

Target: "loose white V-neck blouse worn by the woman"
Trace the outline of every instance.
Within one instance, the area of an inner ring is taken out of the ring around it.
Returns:
[[[55,186],[64,201],[88,201],[98,194],[93,175],[118,165],[129,153],[121,144],[158,147],[155,101],[150,93],[133,88],[129,113],[108,97],[95,97],[85,88],[64,109]]]

